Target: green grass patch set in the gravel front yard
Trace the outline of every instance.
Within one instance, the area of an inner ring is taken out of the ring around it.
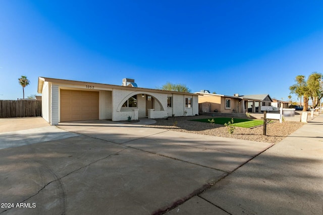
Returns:
[[[219,117],[219,118],[208,118],[208,119],[192,119],[192,121],[198,121],[198,122],[207,122],[210,123],[208,120],[214,119],[214,123],[224,125],[225,123],[228,123],[231,118],[228,117]],[[243,128],[251,128],[254,126],[262,125],[263,120],[261,119],[240,119],[240,118],[233,118],[233,124],[237,127],[243,127]]]

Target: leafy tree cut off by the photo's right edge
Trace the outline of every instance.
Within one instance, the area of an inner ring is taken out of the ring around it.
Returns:
[[[306,82],[308,96],[312,100],[314,108],[319,105],[319,101],[323,97],[321,77],[322,74],[314,72],[307,78]]]

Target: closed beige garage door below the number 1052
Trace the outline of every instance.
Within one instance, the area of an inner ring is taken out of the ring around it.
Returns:
[[[99,119],[99,92],[61,90],[61,122]]]

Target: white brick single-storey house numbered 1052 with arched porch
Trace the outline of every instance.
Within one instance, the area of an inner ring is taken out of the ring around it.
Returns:
[[[42,94],[42,117],[52,125],[198,114],[196,94],[138,88],[132,79],[123,79],[118,86],[39,77],[38,93]]]

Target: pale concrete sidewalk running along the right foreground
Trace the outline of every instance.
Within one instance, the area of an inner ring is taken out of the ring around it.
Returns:
[[[322,214],[323,115],[169,214]]]

